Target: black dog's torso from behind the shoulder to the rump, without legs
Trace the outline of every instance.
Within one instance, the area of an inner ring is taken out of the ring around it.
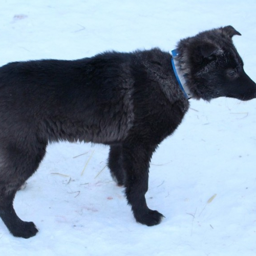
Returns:
[[[122,139],[133,119],[132,83],[123,77],[125,62],[125,54],[106,53],[73,61],[13,62],[0,68],[0,119],[5,120],[0,137],[19,131],[19,137],[36,134],[46,141]]]

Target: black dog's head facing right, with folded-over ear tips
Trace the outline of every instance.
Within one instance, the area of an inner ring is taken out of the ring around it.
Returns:
[[[197,99],[256,97],[256,84],[245,73],[243,60],[232,42],[241,35],[232,26],[201,32],[178,43],[180,68]]]

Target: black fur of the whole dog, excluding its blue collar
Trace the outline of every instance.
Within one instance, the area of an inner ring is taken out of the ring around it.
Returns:
[[[178,62],[196,99],[249,100],[245,74],[227,26],[178,43]],[[12,62],[0,68],[0,216],[16,237],[38,231],[13,208],[17,189],[35,172],[49,142],[110,145],[109,168],[125,186],[135,219],[148,226],[163,215],[147,207],[148,168],[158,144],[181,123],[189,103],[168,52],[105,52],[78,60]]]

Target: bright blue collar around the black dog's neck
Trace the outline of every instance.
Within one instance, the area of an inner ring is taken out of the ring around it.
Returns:
[[[193,97],[193,95],[187,86],[187,82],[185,79],[185,73],[181,70],[179,61],[177,60],[179,53],[177,50],[173,50],[172,54],[173,54],[172,66],[173,66],[174,74],[176,76],[176,79],[177,79],[179,86],[180,86],[182,92],[184,93],[185,97],[187,99],[190,99]]]

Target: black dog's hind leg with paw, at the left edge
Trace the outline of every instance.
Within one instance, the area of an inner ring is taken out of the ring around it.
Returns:
[[[30,238],[38,232],[33,222],[19,219],[13,200],[16,191],[37,169],[46,145],[38,143],[30,150],[13,146],[0,148],[0,217],[15,237]]]

